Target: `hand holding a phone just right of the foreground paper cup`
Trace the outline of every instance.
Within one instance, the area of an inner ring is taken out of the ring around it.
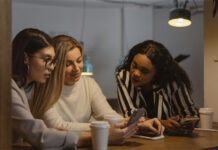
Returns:
[[[126,126],[126,122],[116,123],[111,125],[109,129],[109,144],[123,144],[127,138],[135,134],[137,123]]]

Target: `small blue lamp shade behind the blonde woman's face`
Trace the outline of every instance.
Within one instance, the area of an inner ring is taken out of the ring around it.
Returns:
[[[92,64],[89,63],[89,57],[87,55],[84,55],[83,57],[83,72],[82,75],[93,75],[93,67]]]

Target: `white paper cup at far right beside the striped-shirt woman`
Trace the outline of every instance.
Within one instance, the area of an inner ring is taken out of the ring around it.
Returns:
[[[200,125],[204,129],[212,129],[213,124],[213,108],[200,108]]]

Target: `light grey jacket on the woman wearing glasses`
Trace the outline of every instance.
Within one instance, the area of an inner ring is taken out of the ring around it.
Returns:
[[[11,81],[11,86],[13,142],[24,139],[43,149],[76,149],[79,140],[77,134],[47,128],[42,120],[32,116],[24,89],[19,88],[14,80]]]

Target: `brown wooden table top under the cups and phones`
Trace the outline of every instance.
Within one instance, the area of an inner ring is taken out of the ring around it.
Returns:
[[[214,123],[218,129],[218,123]],[[108,150],[218,150],[218,132],[194,130],[193,137],[165,136],[162,140],[130,138],[121,146],[108,146]],[[31,147],[13,147],[14,150],[32,150]],[[91,150],[91,147],[79,150]]]

